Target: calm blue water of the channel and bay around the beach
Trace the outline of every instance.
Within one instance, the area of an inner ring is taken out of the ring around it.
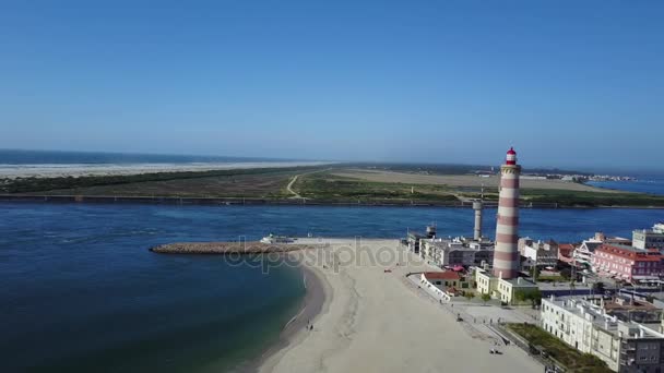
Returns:
[[[495,210],[486,210],[493,234]],[[524,209],[521,234],[629,237],[664,210]],[[271,344],[304,294],[294,268],[229,267],[218,256],[158,255],[173,241],[270,231],[391,237],[437,222],[471,234],[460,208],[0,204],[2,371],[226,371]]]

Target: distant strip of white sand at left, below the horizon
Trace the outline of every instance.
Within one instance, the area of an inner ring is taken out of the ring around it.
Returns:
[[[320,161],[254,161],[201,164],[91,164],[91,165],[0,165],[0,178],[57,178],[81,176],[118,176],[154,172],[210,171],[245,168],[296,167],[325,165]]]

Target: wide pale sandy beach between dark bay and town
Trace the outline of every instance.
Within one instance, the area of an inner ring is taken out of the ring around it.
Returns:
[[[352,246],[351,240],[335,240],[327,250],[343,260],[355,251]],[[383,258],[404,252],[396,240],[363,241],[363,248],[382,252]],[[313,330],[299,332],[261,372],[543,371],[514,346],[501,347],[502,356],[489,354],[493,341],[472,338],[452,314],[423,296],[405,274],[430,270],[424,264],[404,260],[395,266],[398,260],[392,260],[372,265],[368,256],[337,273],[329,263],[328,269],[323,263],[308,264],[323,279],[325,304]],[[392,273],[384,273],[386,267]]]

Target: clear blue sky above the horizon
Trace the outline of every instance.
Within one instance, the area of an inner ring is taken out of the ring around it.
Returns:
[[[0,147],[655,168],[662,1],[3,1]]]

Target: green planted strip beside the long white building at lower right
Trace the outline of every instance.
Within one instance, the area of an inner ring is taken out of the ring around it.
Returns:
[[[508,324],[508,328],[517,333],[531,346],[541,346],[552,358],[564,364],[569,372],[578,373],[609,373],[613,372],[604,361],[590,354],[582,353],[566,345],[544,329],[532,324]]]

